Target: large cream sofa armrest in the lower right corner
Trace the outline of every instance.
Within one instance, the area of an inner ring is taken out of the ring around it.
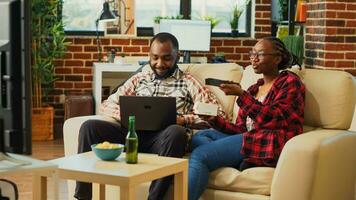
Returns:
[[[271,186],[271,200],[353,199],[356,133],[318,129],[285,145]]]

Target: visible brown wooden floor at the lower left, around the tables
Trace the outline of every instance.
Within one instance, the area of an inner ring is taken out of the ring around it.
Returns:
[[[57,139],[54,141],[34,141],[32,143],[32,155],[31,157],[40,160],[51,160],[64,156],[64,146],[63,140]],[[32,199],[32,175],[31,173],[24,173],[13,176],[1,177],[11,180],[16,183],[19,189],[19,199],[20,200],[31,200]],[[59,187],[59,199],[67,200],[67,183],[61,180],[58,184]],[[51,178],[48,179],[48,199],[54,199],[53,196],[53,181]]]

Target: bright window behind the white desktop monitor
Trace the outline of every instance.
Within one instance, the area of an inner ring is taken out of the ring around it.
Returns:
[[[243,7],[244,3],[245,1],[242,0],[136,0],[136,27],[153,27],[155,16],[177,16],[178,13],[188,12],[190,18],[194,20],[201,20],[208,16],[217,19],[219,23],[213,29],[213,36],[228,36],[231,33],[232,8],[234,5]],[[243,35],[250,33],[250,23],[247,23],[251,16],[250,7],[250,4],[247,5],[239,18],[238,30]],[[191,9],[191,12],[179,8]]]

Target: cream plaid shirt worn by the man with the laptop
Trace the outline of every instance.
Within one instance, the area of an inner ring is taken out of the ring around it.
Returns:
[[[198,115],[193,114],[194,102],[204,102],[219,105],[219,113],[223,115],[217,98],[198,80],[179,68],[166,79],[157,79],[152,70],[140,72],[132,76],[116,93],[109,96],[100,106],[100,114],[120,120],[120,96],[167,96],[175,97],[177,114],[184,117],[186,125],[203,122]]]

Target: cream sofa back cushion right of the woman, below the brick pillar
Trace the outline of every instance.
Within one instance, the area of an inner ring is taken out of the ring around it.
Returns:
[[[343,71],[307,69],[304,82],[304,124],[349,129],[354,114],[354,109],[350,108],[355,105],[354,77]]]

